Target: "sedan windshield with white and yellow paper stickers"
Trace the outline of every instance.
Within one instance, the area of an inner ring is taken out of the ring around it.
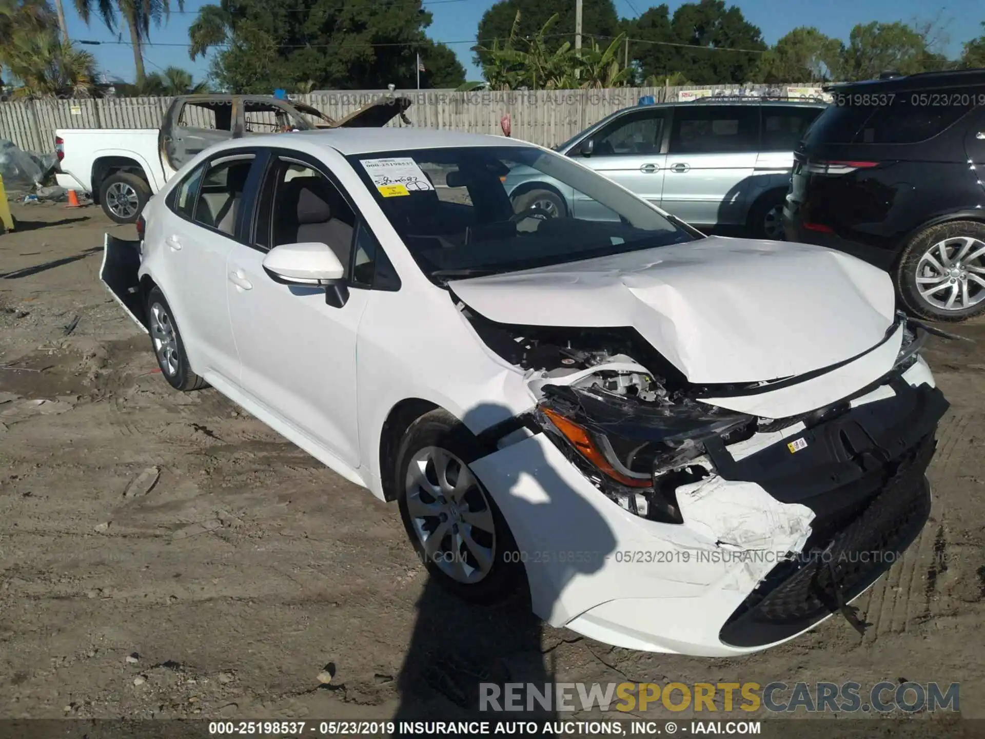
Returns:
[[[695,237],[602,175],[534,147],[422,149],[349,160],[438,284]]]

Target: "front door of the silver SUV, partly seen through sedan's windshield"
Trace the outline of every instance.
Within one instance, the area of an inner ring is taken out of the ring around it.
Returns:
[[[664,182],[662,154],[667,108],[640,107],[608,123],[592,139],[590,156],[583,149],[571,152],[587,167],[619,182],[653,204],[660,203]],[[575,195],[575,218],[610,220],[607,208],[585,196]]]

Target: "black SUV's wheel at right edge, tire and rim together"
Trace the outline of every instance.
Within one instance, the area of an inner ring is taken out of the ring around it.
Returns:
[[[985,224],[952,221],[915,235],[895,278],[903,305],[922,318],[961,321],[985,312]]]

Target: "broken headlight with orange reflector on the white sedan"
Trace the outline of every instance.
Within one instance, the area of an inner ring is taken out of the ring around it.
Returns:
[[[649,404],[597,387],[547,385],[544,391],[545,429],[577,453],[574,461],[604,492],[616,494],[620,504],[628,499],[624,507],[633,512],[640,512],[640,497],[651,505],[670,504],[668,493],[672,498],[680,485],[710,473],[705,439],[729,444],[755,433],[753,417],[693,400]],[[670,473],[677,482],[668,490],[663,482]]]

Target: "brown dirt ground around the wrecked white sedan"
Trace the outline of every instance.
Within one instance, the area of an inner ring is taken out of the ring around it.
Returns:
[[[436,590],[395,505],[215,390],[164,382],[99,283],[103,233],[132,227],[92,207],[13,210],[20,228],[0,236],[0,717],[448,717],[484,669],[960,682],[963,715],[985,717],[985,322],[952,329],[978,344],[931,341],[952,403],[932,519],[858,602],[864,637],[837,618],[744,659],[648,654]]]

